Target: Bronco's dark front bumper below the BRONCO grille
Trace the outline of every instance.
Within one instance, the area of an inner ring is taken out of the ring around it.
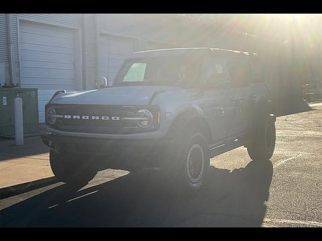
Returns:
[[[89,154],[92,156],[142,156],[157,154],[171,148],[174,140],[159,139],[107,139],[72,137],[57,134],[44,134],[43,143],[59,154]]]

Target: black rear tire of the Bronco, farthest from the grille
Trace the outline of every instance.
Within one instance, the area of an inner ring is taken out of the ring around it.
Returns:
[[[254,161],[269,160],[274,153],[276,141],[275,122],[267,117],[256,128],[253,140],[247,147],[250,158]]]

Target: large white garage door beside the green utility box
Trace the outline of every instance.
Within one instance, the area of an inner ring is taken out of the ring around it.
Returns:
[[[21,87],[38,88],[39,123],[45,122],[45,104],[61,89],[74,83],[74,36],[72,32],[21,23]]]

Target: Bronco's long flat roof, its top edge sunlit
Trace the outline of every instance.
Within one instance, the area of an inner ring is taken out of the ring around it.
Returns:
[[[140,57],[154,57],[154,56],[181,56],[190,54],[206,54],[216,57],[250,57],[257,56],[256,53],[234,51],[227,49],[214,49],[214,48],[176,48],[176,49],[157,49],[133,53],[130,58]]]

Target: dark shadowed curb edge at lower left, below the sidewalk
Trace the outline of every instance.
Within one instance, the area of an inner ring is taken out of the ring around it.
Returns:
[[[57,182],[58,180],[56,179],[56,177],[53,176],[53,177],[38,179],[31,182],[17,184],[10,187],[0,188],[0,200],[7,197],[15,196],[24,192],[28,192],[40,187],[45,187]]]

